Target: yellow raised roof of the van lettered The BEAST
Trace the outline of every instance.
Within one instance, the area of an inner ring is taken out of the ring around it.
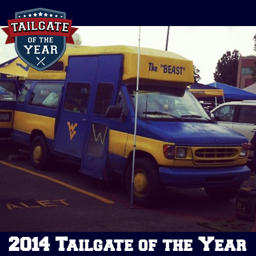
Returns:
[[[123,54],[123,81],[135,81],[137,79],[138,47],[135,46],[76,46],[67,48],[58,63],[64,64],[62,71],[46,69],[36,71],[29,69],[28,79],[64,80],[65,67],[68,66],[69,56],[77,55],[111,55]],[[53,64],[54,66],[55,64]],[[50,68],[53,69],[53,66]],[[187,60],[177,53],[170,51],[140,48],[140,79],[152,81],[165,81],[194,83],[194,69],[191,60]]]

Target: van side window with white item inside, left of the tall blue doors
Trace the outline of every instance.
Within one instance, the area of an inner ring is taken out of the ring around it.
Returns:
[[[37,83],[30,95],[29,104],[55,109],[62,92],[62,86],[62,83]]]

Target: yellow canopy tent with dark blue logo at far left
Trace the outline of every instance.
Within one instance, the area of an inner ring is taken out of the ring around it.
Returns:
[[[0,64],[0,77],[25,80],[29,71],[29,65],[19,57]]]

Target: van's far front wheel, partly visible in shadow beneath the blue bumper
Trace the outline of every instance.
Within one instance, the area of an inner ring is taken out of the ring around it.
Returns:
[[[205,187],[205,192],[215,201],[229,201],[236,197],[240,185],[230,185],[226,187]]]

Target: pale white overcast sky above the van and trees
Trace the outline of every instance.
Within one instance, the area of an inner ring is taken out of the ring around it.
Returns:
[[[0,26],[5,27],[5,26]],[[78,26],[76,26],[78,27]],[[125,44],[138,46],[138,26],[132,27],[78,27],[82,45],[104,46]],[[141,26],[140,46],[165,50],[168,26]],[[226,51],[238,50],[242,56],[256,55],[253,36],[256,26],[209,27],[170,26],[168,51],[174,51],[200,70],[199,83],[209,84],[218,60]],[[14,44],[5,44],[7,35],[0,30],[0,63],[17,57]]]

